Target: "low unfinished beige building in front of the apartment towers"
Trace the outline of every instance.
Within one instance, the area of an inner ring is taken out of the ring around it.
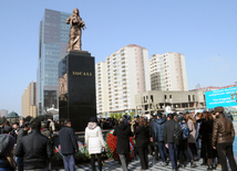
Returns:
[[[205,90],[150,90],[135,96],[136,114],[153,114],[155,109],[184,111],[205,109]]]

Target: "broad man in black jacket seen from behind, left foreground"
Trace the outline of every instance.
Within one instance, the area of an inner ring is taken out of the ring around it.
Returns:
[[[48,171],[48,159],[53,156],[49,138],[40,132],[41,122],[31,124],[31,133],[21,138],[16,157],[23,158],[24,170]]]

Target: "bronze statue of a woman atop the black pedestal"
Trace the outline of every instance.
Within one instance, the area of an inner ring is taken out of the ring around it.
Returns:
[[[79,9],[75,8],[71,17],[69,17],[65,21],[66,24],[71,24],[71,29],[69,32],[69,44],[66,52],[74,50],[74,51],[82,51],[82,30],[86,29],[85,23],[82,21],[82,18],[79,15]]]

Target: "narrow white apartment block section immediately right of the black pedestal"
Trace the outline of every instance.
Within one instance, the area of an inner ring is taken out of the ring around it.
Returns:
[[[96,113],[104,114],[107,108],[107,77],[106,63],[100,62],[95,65],[95,85],[96,85]]]

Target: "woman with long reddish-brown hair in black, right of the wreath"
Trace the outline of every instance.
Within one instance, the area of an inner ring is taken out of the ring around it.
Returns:
[[[150,130],[145,118],[140,118],[138,128],[134,128],[136,137],[136,149],[141,159],[142,170],[148,169],[148,145],[150,145]]]

